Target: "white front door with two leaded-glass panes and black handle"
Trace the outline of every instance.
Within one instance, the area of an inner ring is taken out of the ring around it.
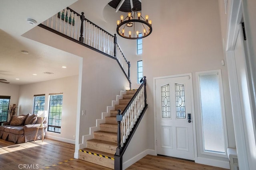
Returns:
[[[190,76],[156,79],[157,154],[194,160],[190,81]]]

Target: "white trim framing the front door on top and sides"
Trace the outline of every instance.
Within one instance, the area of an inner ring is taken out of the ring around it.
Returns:
[[[174,77],[182,77],[182,76],[190,76],[190,86],[191,86],[191,110],[192,110],[192,123],[193,123],[193,140],[194,140],[194,158],[197,158],[197,145],[196,145],[196,120],[195,120],[195,108],[194,108],[194,88],[192,82],[192,73],[186,74],[176,74],[170,76],[162,76],[162,77],[154,77],[153,78],[153,95],[154,95],[154,144],[155,144],[155,155],[157,155],[157,146],[156,146],[156,80],[163,78],[174,78]]]

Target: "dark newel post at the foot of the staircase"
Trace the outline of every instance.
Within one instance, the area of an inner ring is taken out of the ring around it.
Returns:
[[[121,148],[121,121],[122,121],[122,115],[120,114],[121,110],[118,110],[118,114],[116,115],[116,121],[117,121],[117,148],[116,148],[116,154],[114,155],[114,169],[115,170],[122,170],[122,148]]]

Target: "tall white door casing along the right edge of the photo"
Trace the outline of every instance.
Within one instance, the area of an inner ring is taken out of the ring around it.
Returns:
[[[234,122],[234,132],[236,138],[236,150],[238,153],[239,168],[249,169],[248,153],[246,150],[246,137],[244,123],[241,113],[240,94],[238,88],[238,79],[236,74],[236,63],[234,60],[234,48],[238,37],[239,23],[242,20],[241,0],[231,1],[231,12],[228,22],[228,35],[226,44],[226,60],[228,67],[228,78],[230,83],[230,95],[232,103],[232,114]]]

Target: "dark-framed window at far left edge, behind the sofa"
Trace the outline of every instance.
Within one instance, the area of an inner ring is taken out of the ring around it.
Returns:
[[[10,96],[0,96],[0,125],[7,121]]]

